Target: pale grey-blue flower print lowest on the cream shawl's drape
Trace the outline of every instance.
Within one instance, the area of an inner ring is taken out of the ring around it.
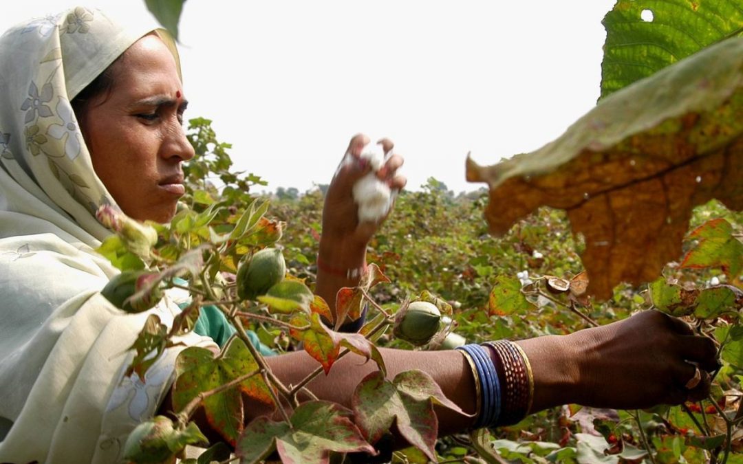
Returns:
[[[162,385],[170,379],[173,372],[173,365],[163,363],[163,359],[165,358],[158,359],[147,370],[144,382],[140,380],[136,373],[124,377],[114,389],[114,393],[111,394],[106,412],[128,404],[129,416],[132,419],[141,421],[151,416],[154,412],[152,407],[157,405],[158,396],[160,396],[160,391],[163,390]]]

